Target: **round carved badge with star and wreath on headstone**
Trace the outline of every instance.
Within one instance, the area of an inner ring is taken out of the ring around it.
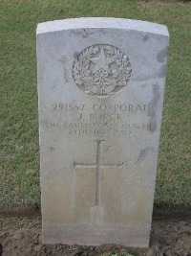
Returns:
[[[86,48],[73,65],[76,85],[96,97],[111,96],[122,90],[131,73],[129,58],[117,47],[108,44]]]

